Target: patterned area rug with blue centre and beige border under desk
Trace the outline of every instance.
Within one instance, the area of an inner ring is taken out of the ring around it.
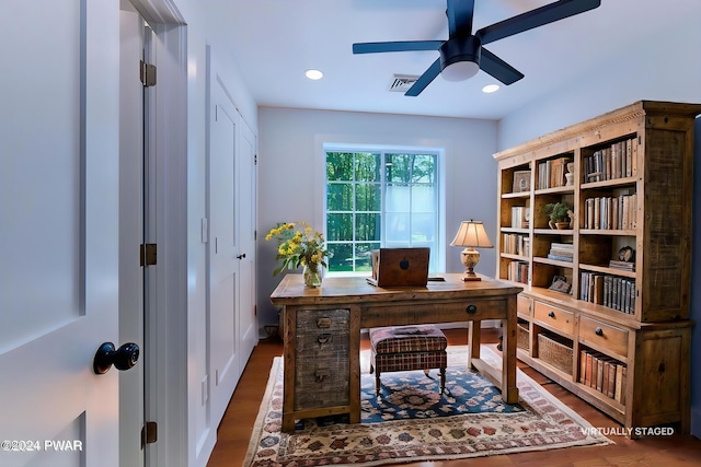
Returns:
[[[374,466],[457,459],[559,447],[610,444],[586,430],[590,424],[518,371],[518,405],[466,367],[467,348],[448,348],[446,392],[438,395],[436,371],[382,375],[380,400],[375,376],[361,354],[361,423],[343,417],[303,420],[294,434],[280,433],[283,361],[275,358],[244,462],[257,466]],[[501,358],[482,347],[482,358]]]

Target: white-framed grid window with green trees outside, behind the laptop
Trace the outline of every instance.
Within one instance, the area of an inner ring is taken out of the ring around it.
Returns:
[[[380,247],[428,246],[437,269],[438,153],[326,151],[330,272],[370,271]]]

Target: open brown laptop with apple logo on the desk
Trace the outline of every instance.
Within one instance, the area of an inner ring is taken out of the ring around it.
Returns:
[[[381,288],[426,287],[430,248],[380,248],[372,250],[372,277]]]

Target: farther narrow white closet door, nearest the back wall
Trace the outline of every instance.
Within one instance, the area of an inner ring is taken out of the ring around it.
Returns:
[[[240,293],[239,293],[239,353],[245,366],[253,348],[258,341],[258,325],[255,313],[255,227],[257,203],[257,165],[255,136],[242,120],[239,124],[237,162],[239,165],[239,222],[240,236]]]

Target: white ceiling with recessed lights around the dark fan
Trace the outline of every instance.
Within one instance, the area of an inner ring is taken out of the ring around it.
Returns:
[[[551,0],[475,0],[476,31]],[[417,97],[387,91],[394,73],[421,74],[437,51],[354,55],[353,43],[444,40],[446,0],[210,0],[210,35],[227,44],[260,106],[498,119],[665,31],[691,27],[701,0],[601,0],[595,10],[489,44],[526,78],[494,94],[480,71],[441,77]],[[674,50],[670,50],[674,52]],[[320,81],[306,69],[324,72]]]

